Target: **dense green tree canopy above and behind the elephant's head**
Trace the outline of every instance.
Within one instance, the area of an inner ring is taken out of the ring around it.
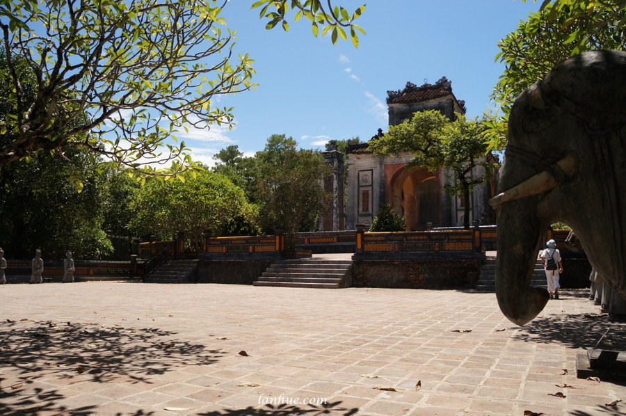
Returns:
[[[498,45],[504,73],[492,98],[502,111],[486,131],[490,150],[506,145],[508,113],[517,95],[556,65],[583,51],[626,48],[626,0],[545,0]]]

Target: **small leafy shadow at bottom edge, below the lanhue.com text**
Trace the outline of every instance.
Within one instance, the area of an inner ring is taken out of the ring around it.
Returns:
[[[262,408],[248,407],[245,409],[224,409],[209,413],[198,413],[198,416],[319,416],[319,415],[342,415],[351,416],[358,412],[358,408],[344,408],[341,406],[342,401],[332,403],[324,403],[319,406],[309,404],[307,407],[298,407],[291,404],[280,404],[273,406],[268,404]]]

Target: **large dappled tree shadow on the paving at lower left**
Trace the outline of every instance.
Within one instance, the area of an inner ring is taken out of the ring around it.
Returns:
[[[211,365],[224,354],[158,328],[7,320],[0,323],[0,415],[40,410],[92,415],[97,406],[56,405],[65,396],[55,387],[115,381],[150,385],[153,376]],[[42,388],[38,382],[55,387]]]

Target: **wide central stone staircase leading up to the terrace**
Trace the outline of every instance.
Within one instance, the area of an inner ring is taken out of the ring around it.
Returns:
[[[352,261],[339,259],[281,260],[268,267],[255,286],[340,289],[352,281]]]

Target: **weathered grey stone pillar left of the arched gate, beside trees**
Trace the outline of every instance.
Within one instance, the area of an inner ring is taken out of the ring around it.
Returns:
[[[337,141],[331,140],[323,152],[326,163],[331,168],[330,175],[322,180],[322,188],[331,195],[328,205],[319,217],[320,231],[345,230],[344,223],[344,154],[337,150]]]

